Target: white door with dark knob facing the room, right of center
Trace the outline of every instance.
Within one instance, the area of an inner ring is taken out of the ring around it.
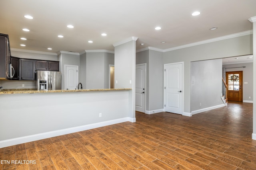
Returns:
[[[164,111],[182,114],[182,65],[164,65]]]

